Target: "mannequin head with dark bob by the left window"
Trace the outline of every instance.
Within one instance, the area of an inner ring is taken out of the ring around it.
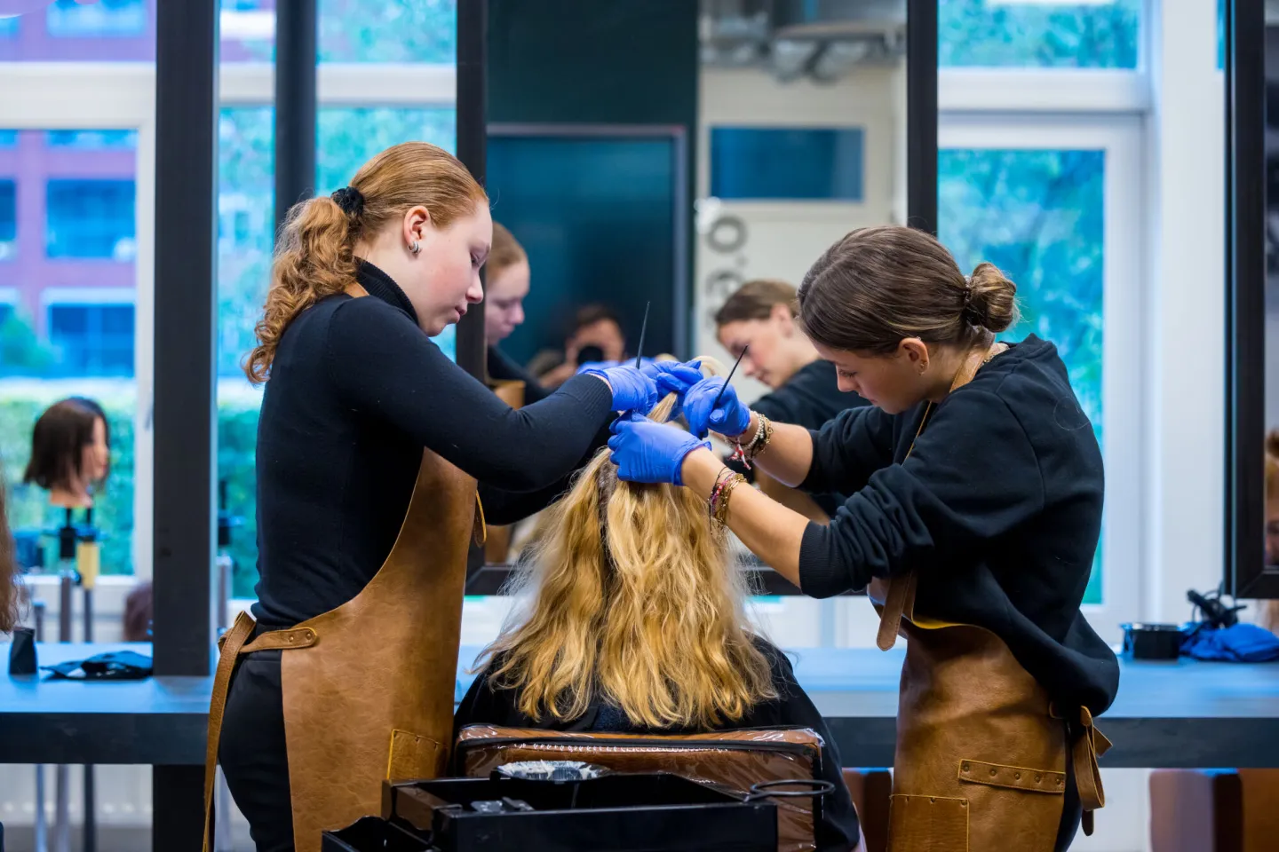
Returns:
[[[92,492],[106,479],[110,464],[111,436],[101,406],[70,397],[36,420],[23,482],[47,491],[56,506],[92,506]]]

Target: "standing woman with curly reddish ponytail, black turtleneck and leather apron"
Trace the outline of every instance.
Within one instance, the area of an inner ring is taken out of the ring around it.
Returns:
[[[281,230],[246,364],[266,383],[257,603],[224,639],[208,736],[260,852],[316,851],[379,810],[385,778],[443,770],[485,510],[541,508],[614,411],[657,399],[615,367],[513,410],[445,356],[431,337],[483,298],[491,243],[483,189],[422,142]],[[210,763],[206,803],[211,780]]]

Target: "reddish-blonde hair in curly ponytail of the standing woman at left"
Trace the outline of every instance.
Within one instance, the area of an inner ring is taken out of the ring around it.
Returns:
[[[426,142],[391,146],[361,166],[350,186],[363,197],[349,213],[329,195],[294,204],[280,229],[271,287],[255,332],[257,346],[244,361],[251,382],[270,377],[276,346],[289,323],[315,303],[356,280],[356,244],[422,206],[431,224],[448,227],[487,195],[467,167]]]

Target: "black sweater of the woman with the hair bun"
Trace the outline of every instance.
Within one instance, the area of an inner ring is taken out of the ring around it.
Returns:
[[[1079,613],[1101,451],[1056,347],[1031,336],[995,356],[934,406],[907,459],[923,414],[854,409],[812,433],[803,487],[852,497],[804,530],[803,591],[916,570],[921,614],[991,630],[1056,701],[1101,713],[1119,664]]]

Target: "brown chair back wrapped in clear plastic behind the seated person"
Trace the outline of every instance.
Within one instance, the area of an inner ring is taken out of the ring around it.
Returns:
[[[817,779],[821,746],[821,737],[808,728],[647,736],[476,724],[458,733],[454,761],[457,774],[487,778],[509,763],[581,760],[616,772],[669,772],[744,796],[764,782]],[[774,801],[779,852],[816,848],[813,798]],[[865,852],[865,843],[857,852]]]

